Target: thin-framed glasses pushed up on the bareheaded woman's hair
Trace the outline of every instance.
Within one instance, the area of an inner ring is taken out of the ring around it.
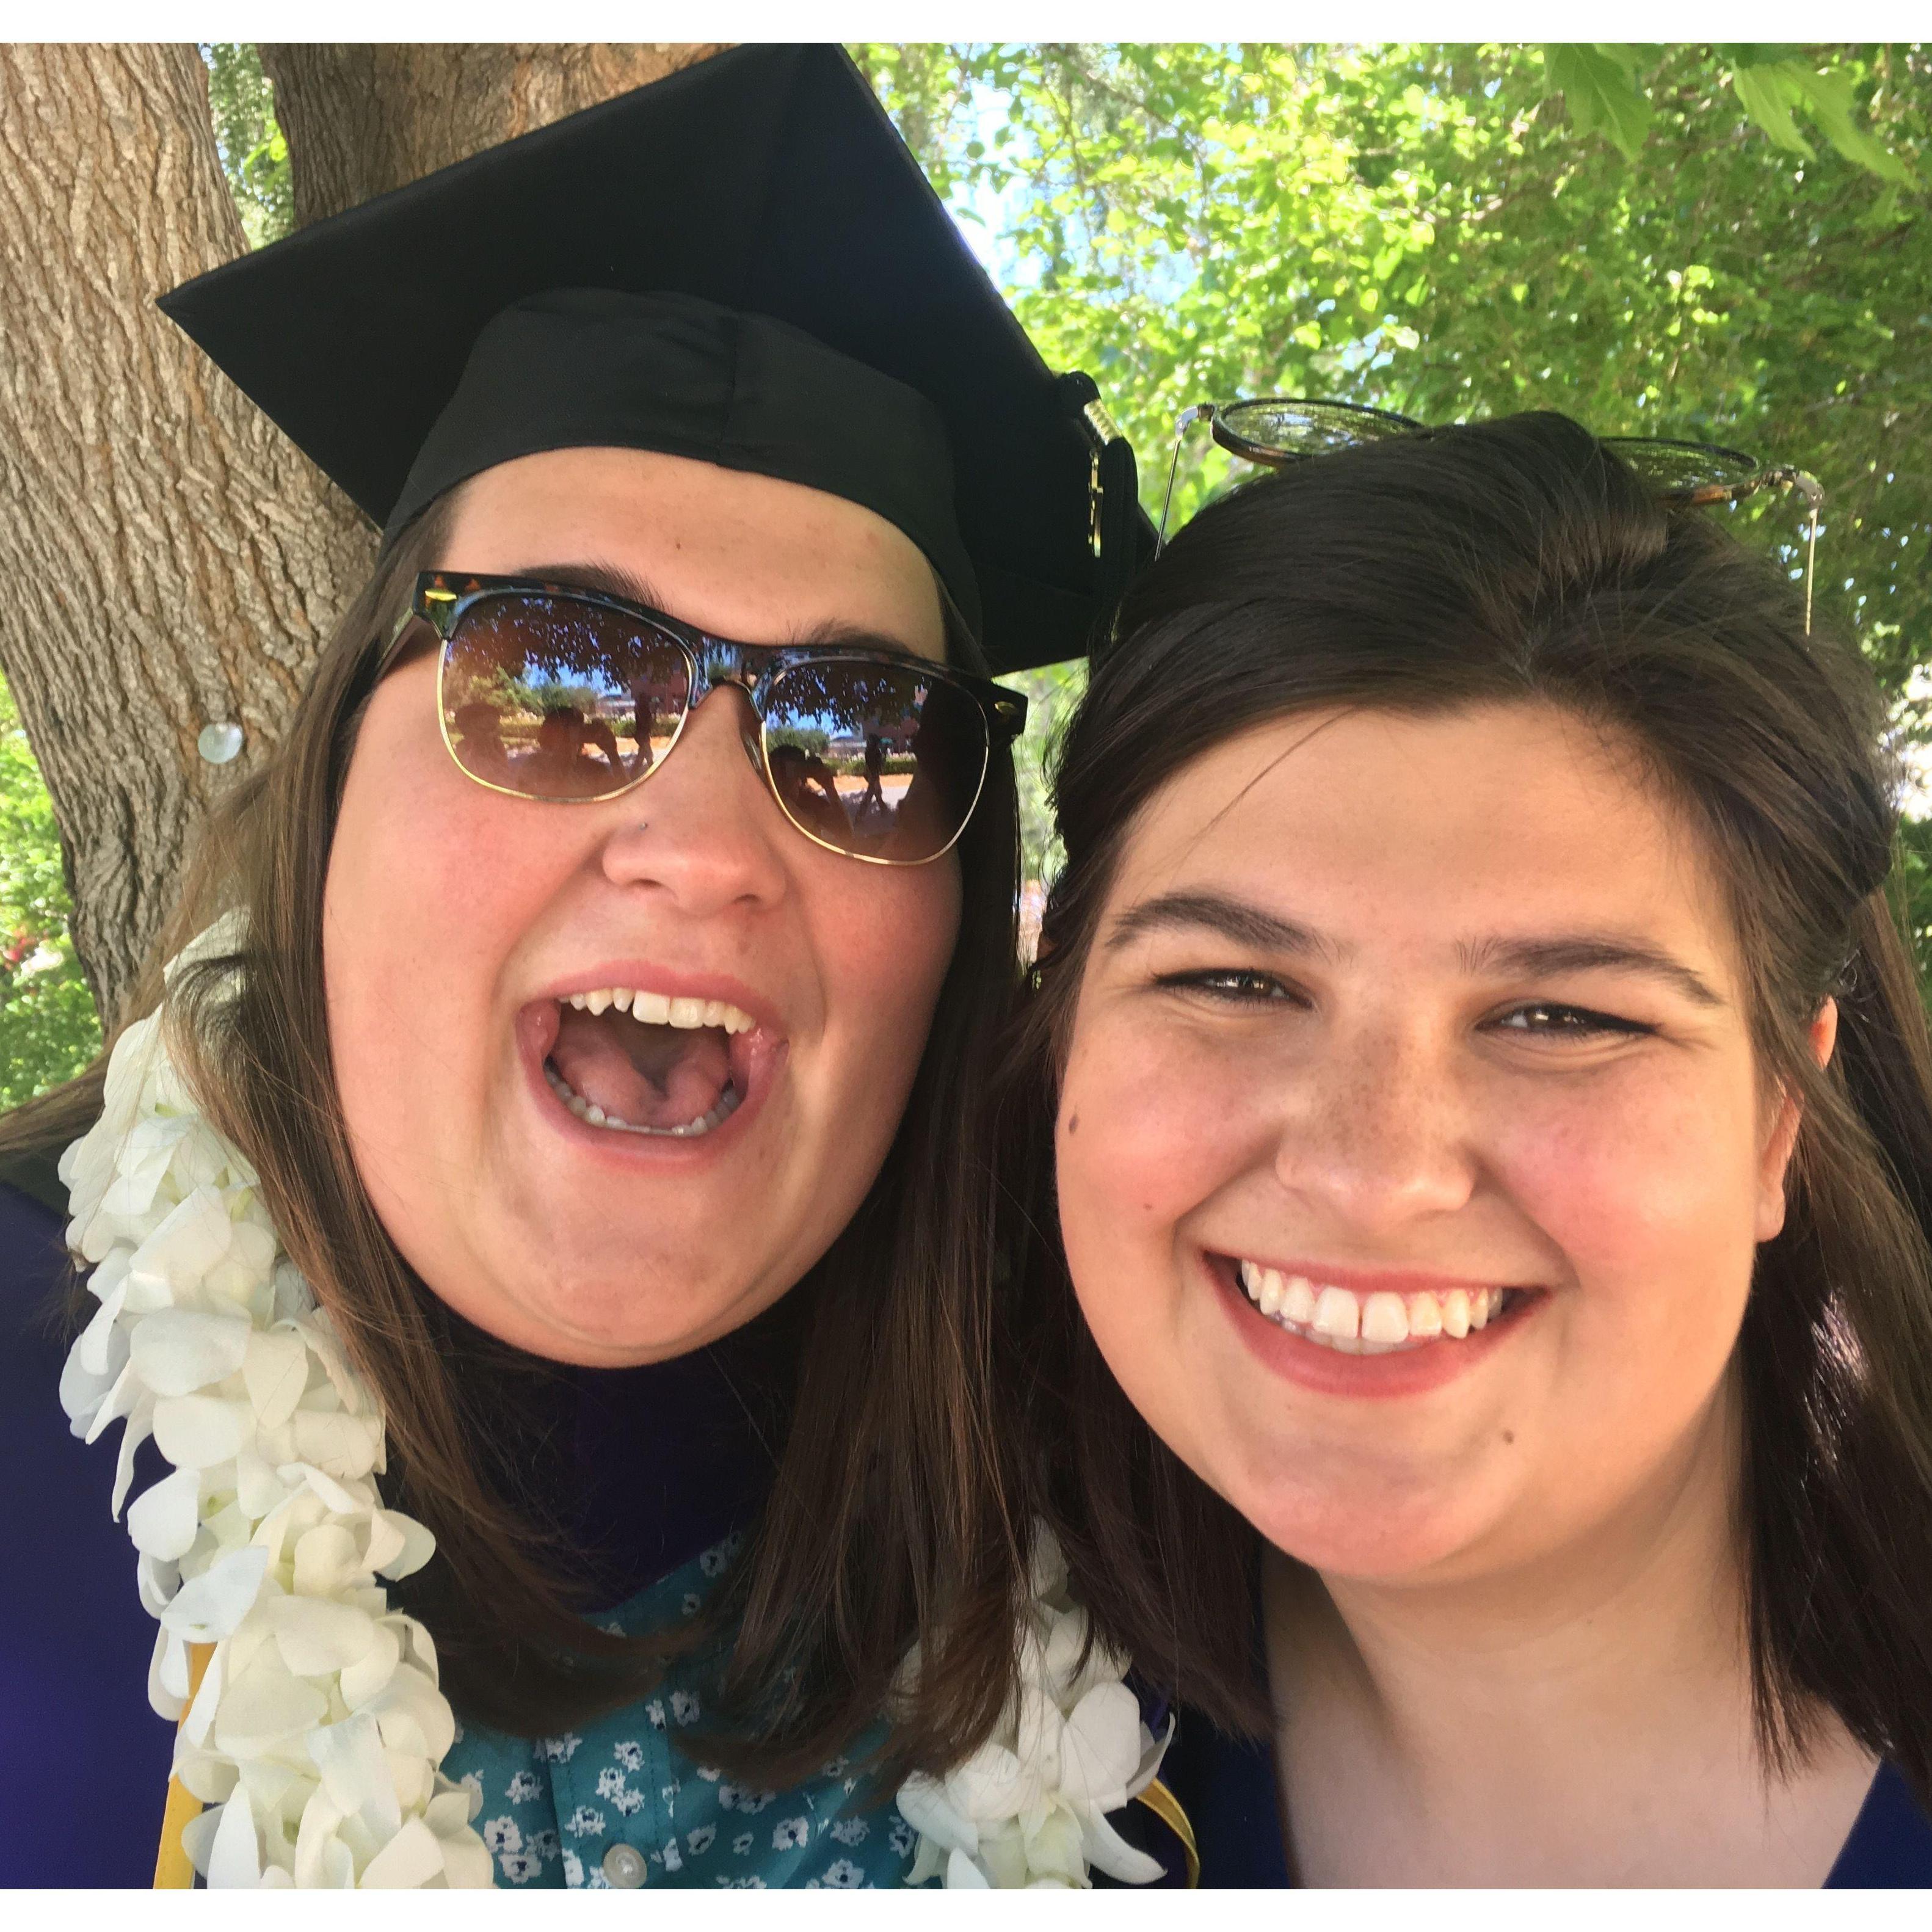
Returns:
[[[1167,510],[1175,500],[1175,471],[1188,423],[1208,423],[1209,435],[1231,456],[1281,469],[1312,456],[1387,442],[1393,437],[1426,437],[1430,429],[1393,410],[1368,410],[1358,402],[1316,402],[1308,396],[1258,396],[1252,402],[1200,402],[1182,410],[1175,423],[1175,454],[1167,466],[1167,497],[1161,500],[1161,545],[1167,543]],[[1698,506],[1743,502],[1760,489],[1795,489],[1808,510],[1804,539],[1804,632],[1810,634],[1810,583],[1818,554],[1818,512],[1824,489],[1818,479],[1789,464],[1760,464],[1743,450],[1721,442],[1677,442],[1669,437],[1598,437],[1615,452],[1660,502]]]

